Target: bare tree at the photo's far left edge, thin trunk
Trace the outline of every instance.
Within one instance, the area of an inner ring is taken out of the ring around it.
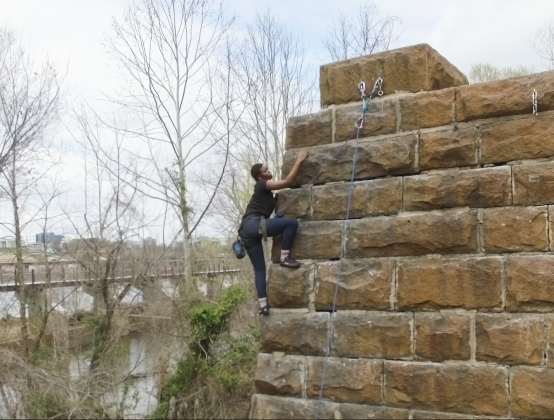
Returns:
[[[28,354],[21,200],[42,176],[31,162],[36,162],[37,156],[44,153],[44,138],[58,118],[63,78],[48,61],[42,66],[35,65],[13,33],[2,30],[0,34],[4,48],[0,51],[0,159],[3,160],[0,187],[12,207],[21,335]]]

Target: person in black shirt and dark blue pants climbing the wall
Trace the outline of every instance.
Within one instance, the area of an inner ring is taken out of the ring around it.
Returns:
[[[299,152],[290,173],[285,179],[280,181],[273,180],[273,175],[271,175],[266,165],[256,163],[250,169],[250,174],[256,181],[256,184],[254,185],[254,194],[252,194],[252,198],[242,217],[242,222],[239,227],[239,236],[254,266],[256,290],[260,301],[260,309],[258,312],[261,315],[269,315],[264,249],[262,246],[262,233],[260,229],[261,218],[263,216],[266,219],[267,236],[283,235],[280,264],[283,267],[289,268],[300,267],[300,263],[293,260],[289,255],[296,236],[296,230],[298,229],[298,221],[292,218],[279,217],[270,219],[269,217],[275,210],[275,197],[272,191],[282,190],[292,185],[298,174],[300,165],[306,160],[309,153],[308,150]]]

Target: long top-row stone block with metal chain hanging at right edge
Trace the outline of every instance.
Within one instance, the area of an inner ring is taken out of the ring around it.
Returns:
[[[554,109],[554,72],[457,88],[456,121],[530,114],[537,89],[539,112]]]

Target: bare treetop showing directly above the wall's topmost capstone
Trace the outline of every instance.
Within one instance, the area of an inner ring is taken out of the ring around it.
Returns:
[[[380,17],[375,4],[363,4],[355,16],[341,12],[333,20],[323,46],[332,61],[386,51],[399,37],[396,35],[399,23],[397,16]]]

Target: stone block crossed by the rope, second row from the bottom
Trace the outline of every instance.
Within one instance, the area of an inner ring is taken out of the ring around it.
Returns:
[[[324,363],[324,357],[308,358],[308,398],[319,397]],[[380,360],[330,357],[327,359],[323,397],[337,402],[381,404],[382,373]]]

